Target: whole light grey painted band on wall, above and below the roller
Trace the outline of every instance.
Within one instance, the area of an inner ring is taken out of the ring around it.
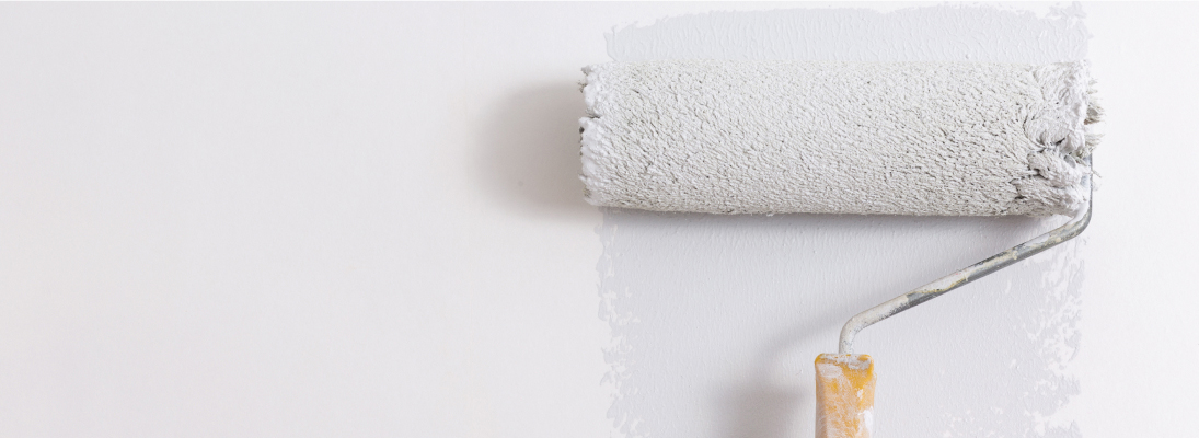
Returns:
[[[617,29],[608,50],[1052,62],[1085,56],[1081,17],[1078,6],[718,12]],[[812,360],[836,350],[845,319],[1062,221],[605,210],[609,416],[631,437],[811,437]],[[1079,392],[1068,365],[1085,239],[863,331],[878,436],[1077,437],[1059,413]]]

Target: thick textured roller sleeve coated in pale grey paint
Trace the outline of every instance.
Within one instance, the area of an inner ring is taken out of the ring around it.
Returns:
[[[1053,215],[1085,205],[1085,61],[590,66],[586,198],[722,214]]]

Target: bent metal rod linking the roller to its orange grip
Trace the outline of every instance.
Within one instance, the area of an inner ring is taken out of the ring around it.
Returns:
[[[1090,163],[1091,160],[1087,158],[1086,161]],[[1095,190],[1091,187],[1090,178],[1087,178],[1086,185],[1093,194]],[[921,302],[941,296],[942,294],[957,289],[969,282],[986,277],[988,274],[1007,268],[1016,262],[1036,256],[1042,251],[1073,239],[1083,233],[1090,222],[1091,202],[1087,200],[1086,208],[1079,209],[1079,211],[1074,214],[1074,217],[1061,227],[849,318],[845,326],[840,329],[840,343],[837,348],[838,353],[854,353],[854,336],[856,336],[858,331],[862,331],[862,329],[887,319],[896,313],[915,307]]]

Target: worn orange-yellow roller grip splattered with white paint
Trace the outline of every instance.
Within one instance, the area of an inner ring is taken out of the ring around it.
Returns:
[[[817,438],[869,438],[874,361],[864,354],[817,356]]]

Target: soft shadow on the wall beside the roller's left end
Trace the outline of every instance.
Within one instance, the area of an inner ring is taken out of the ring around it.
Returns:
[[[522,215],[594,221],[579,181],[584,113],[574,83],[528,86],[502,98],[477,133],[480,191]]]

